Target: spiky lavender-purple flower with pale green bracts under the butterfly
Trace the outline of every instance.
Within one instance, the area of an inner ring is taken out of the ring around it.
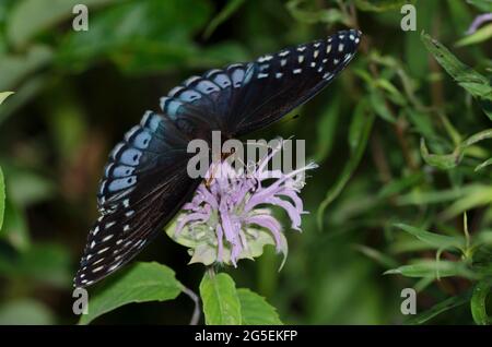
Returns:
[[[274,243],[285,256],[282,226],[267,206],[284,210],[292,229],[301,231],[301,215],[306,212],[298,193],[304,187],[304,172],[317,166],[312,163],[289,174],[269,170],[268,164],[282,147],[280,142],[246,171],[234,169],[229,160],[213,163],[207,180],[183,207],[173,238],[179,242],[186,230],[188,236],[179,243],[192,248],[194,256],[203,263],[237,266],[238,259],[260,255],[267,243]]]

